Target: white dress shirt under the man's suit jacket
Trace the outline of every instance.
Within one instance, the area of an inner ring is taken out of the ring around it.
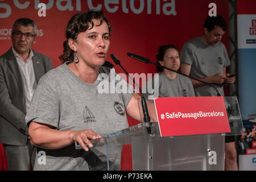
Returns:
[[[28,110],[28,107],[31,104],[32,96],[36,88],[36,80],[35,80],[35,71],[32,63],[32,57],[33,52],[30,49],[30,55],[26,61],[26,63],[23,61],[22,57],[20,57],[13,49],[13,53],[16,57],[16,61],[19,65],[19,70],[22,76],[22,81],[23,81],[23,89],[24,89],[24,94],[26,98],[26,111]]]

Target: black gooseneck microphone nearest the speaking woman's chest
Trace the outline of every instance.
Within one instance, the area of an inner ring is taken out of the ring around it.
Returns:
[[[120,64],[120,61],[117,59],[117,57],[115,57],[115,55],[113,55],[113,53],[110,55],[110,57],[113,59],[114,63],[119,65],[123,69],[123,71],[125,71],[125,73],[131,78],[129,73],[127,73],[125,68],[122,67],[122,65]],[[131,80],[133,80],[134,84],[136,84],[138,86],[139,91],[141,92],[141,106],[142,106],[143,117],[144,117],[143,120],[145,123],[150,123],[150,116],[148,114],[147,103],[146,103],[146,99],[144,98],[144,96],[142,94],[141,87],[134,81],[133,78],[131,78]],[[148,134],[151,134],[151,127],[146,127],[146,128],[147,128]]]

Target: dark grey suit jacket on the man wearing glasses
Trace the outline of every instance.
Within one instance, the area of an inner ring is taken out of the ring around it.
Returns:
[[[52,69],[49,57],[34,50],[36,83]],[[0,143],[22,146],[27,142],[26,99],[19,66],[12,49],[0,56]]]

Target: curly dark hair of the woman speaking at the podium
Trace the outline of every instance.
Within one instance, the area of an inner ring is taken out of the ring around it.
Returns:
[[[88,10],[83,13],[77,13],[72,16],[72,18],[68,22],[68,26],[66,29],[66,38],[63,42],[63,54],[59,56],[59,59],[62,63],[65,63],[66,61],[73,61],[74,60],[74,51],[69,47],[68,45],[68,39],[76,40],[77,35],[80,32],[85,32],[88,30],[89,26],[92,25],[91,28],[93,28],[93,20],[98,19],[100,20],[100,24],[97,26],[100,26],[102,22],[106,22],[108,24],[109,28],[109,35],[111,31],[111,26],[109,21],[105,18],[104,13],[102,11],[96,11],[96,10]],[[90,29],[91,29],[90,28]]]

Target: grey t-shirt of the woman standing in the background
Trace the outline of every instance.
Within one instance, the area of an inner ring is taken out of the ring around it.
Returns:
[[[195,97],[192,82],[188,77],[177,74],[177,77],[172,80],[166,77],[164,73],[159,73],[158,77],[158,79],[156,76],[152,77],[147,81],[147,84],[144,85],[143,90],[146,90],[147,92],[145,96],[146,98]],[[152,93],[152,90],[154,90],[154,93]]]

